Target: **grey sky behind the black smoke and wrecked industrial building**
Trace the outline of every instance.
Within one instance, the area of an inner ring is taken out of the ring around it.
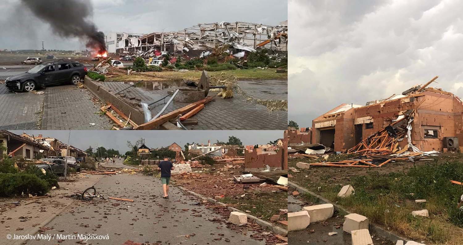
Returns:
[[[50,0],[50,2],[53,2]],[[288,19],[286,0],[82,0],[93,6],[100,31],[150,33],[180,31],[199,23],[252,22],[278,25]],[[0,49],[85,49],[85,42],[62,39],[33,17],[19,0],[0,1]],[[52,4],[52,3],[51,3]]]

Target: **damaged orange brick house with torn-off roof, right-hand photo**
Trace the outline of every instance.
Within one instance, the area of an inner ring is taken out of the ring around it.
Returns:
[[[411,140],[421,151],[458,148],[463,140],[463,103],[450,92],[427,87],[437,78],[365,106],[340,104],[313,120],[312,143],[344,152],[407,116],[412,118],[411,139],[404,138],[399,147]]]

